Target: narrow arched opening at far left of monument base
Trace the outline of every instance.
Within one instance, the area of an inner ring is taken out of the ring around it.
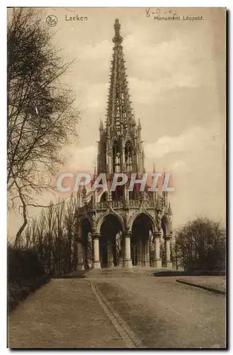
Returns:
[[[84,268],[89,269],[93,258],[93,244],[91,239],[91,223],[86,218],[81,221],[81,244]]]

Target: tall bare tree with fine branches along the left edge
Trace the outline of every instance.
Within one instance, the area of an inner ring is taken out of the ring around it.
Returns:
[[[76,136],[79,112],[60,77],[64,63],[43,28],[36,9],[16,9],[8,21],[7,182],[9,208],[21,202],[23,224],[35,193],[50,188],[49,179],[64,157],[64,143]],[[35,205],[35,202],[34,202]]]

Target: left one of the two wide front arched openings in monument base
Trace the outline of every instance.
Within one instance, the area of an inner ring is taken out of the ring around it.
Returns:
[[[123,226],[114,214],[108,214],[101,224],[101,268],[110,268],[119,263]]]

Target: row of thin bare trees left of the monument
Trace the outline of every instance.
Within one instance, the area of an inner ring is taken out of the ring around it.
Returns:
[[[76,268],[76,202],[74,197],[42,209],[26,227],[17,245],[38,256],[47,275],[64,275]]]

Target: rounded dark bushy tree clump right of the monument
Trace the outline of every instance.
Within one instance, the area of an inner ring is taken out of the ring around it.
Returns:
[[[187,222],[176,231],[171,257],[175,268],[186,271],[225,271],[225,227],[206,217]]]

